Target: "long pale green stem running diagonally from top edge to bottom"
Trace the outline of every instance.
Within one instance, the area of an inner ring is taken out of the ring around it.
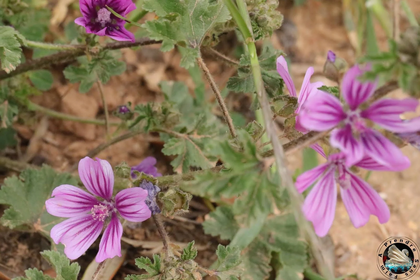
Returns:
[[[246,3],[244,0],[238,0],[237,2],[241,2],[240,5],[246,7]],[[327,266],[325,262],[325,258],[323,256],[323,252],[321,251],[320,241],[318,237],[315,235],[313,228],[309,225],[308,221],[305,219],[302,211],[301,205],[303,203],[303,198],[300,193],[297,192],[296,188],[294,187],[293,179],[286,168],[286,158],[284,154],[284,150],[280,141],[278,140],[276,127],[272,121],[272,113],[270,109],[270,104],[267,99],[267,95],[265,93],[264,84],[262,81],[261,76],[261,69],[258,61],[257,56],[257,49],[255,48],[255,43],[253,42],[253,38],[251,36],[251,32],[247,27],[247,23],[240,15],[238,9],[235,7],[232,0],[224,0],[224,3],[228,7],[229,11],[231,12],[231,16],[236,21],[236,24],[239,26],[239,29],[244,36],[245,42],[247,42],[249,57],[251,61],[251,69],[252,69],[252,76],[254,78],[254,84],[257,90],[258,100],[260,101],[260,106],[262,110],[262,116],[265,122],[265,131],[268,134],[268,137],[271,140],[271,144],[273,145],[273,153],[274,157],[276,158],[276,168],[277,172],[281,177],[282,185],[287,188],[289,195],[291,197],[291,206],[293,209],[293,213],[295,219],[298,222],[301,230],[304,232],[304,235],[307,236],[308,241],[310,242],[312,248],[312,254],[315,258],[315,261],[318,264],[318,267],[323,272],[323,276],[327,280],[334,279],[333,274],[330,268]],[[249,15],[247,13],[247,19],[249,20]]]

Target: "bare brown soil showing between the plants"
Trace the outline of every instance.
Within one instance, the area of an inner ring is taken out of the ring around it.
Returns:
[[[297,90],[300,89],[308,66],[315,68],[312,82],[323,81],[331,85],[330,81],[320,75],[327,51],[333,50],[350,64],[355,60],[354,50],[343,25],[341,1],[307,0],[299,7],[294,7],[286,0],[280,2],[279,10],[284,14],[285,21],[282,28],[273,34],[271,41],[276,48],[284,50],[291,58],[291,76]],[[420,1],[411,0],[408,3],[418,15]],[[55,13],[58,19],[55,18],[54,21],[60,22],[60,18],[70,21],[76,17],[74,12],[61,13],[64,15]],[[146,18],[152,17],[153,15],[147,15]],[[402,18],[402,27],[404,24],[405,19]],[[51,28],[60,30],[57,24]],[[385,47],[385,36],[379,27],[377,30],[380,46]],[[229,37],[226,41],[228,42],[221,44],[218,49],[226,55],[232,55],[231,41],[234,40]],[[212,56],[205,55],[204,58],[216,82],[223,88],[227,78],[234,75],[236,70],[220,63]],[[137,104],[162,100],[158,87],[158,83],[162,80],[180,80],[186,82],[190,89],[194,87],[188,72],[179,67],[180,55],[176,51],[161,53],[159,46],[144,47],[139,50],[126,49],[123,50],[123,59],[128,63],[127,71],[119,77],[112,77],[110,82],[104,85],[110,111],[128,101]],[[206,85],[206,87],[208,98],[213,98],[209,86]],[[63,76],[57,73],[53,89],[32,100],[42,106],[67,114],[84,118],[102,118],[103,108],[97,87],[94,86],[87,94],[80,94],[77,88],[78,85],[66,84]],[[391,95],[395,98],[405,96],[398,90]],[[252,119],[252,114],[248,109],[249,97],[229,96],[227,101],[231,111],[240,112],[247,119]],[[102,126],[51,118],[43,119],[42,114],[34,117],[42,121],[39,124],[26,122],[15,126],[21,139],[21,151],[6,151],[6,155],[10,154],[13,157],[16,153],[21,153],[21,158],[32,164],[47,163],[56,169],[68,170],[90,150],[105,142],[105,128]],[[172,169],[168,164],[170,159],[160,153],[162,147],[163,143],[158,135],[139,135],[108,147],[99,153],[98,157],[110,161],[113,165],[121,161],[135,165],[146,156],[155,156],[159,172],[171,174]],[[420,199],[420,153],[411,146],[403,148],[403,152],[412,161],[409,169],[398,173],[373,172],[369,179],[370,184],[380,193],[391,209],[391,219],[388,223],[380,225],[376,217],[371,217],[367,225],[355,229],[339,199],[336,219],[330,231],[334,244],[336,276],[357,273],[359,279],[384,279],[376,267],[376,250],[383,240],[390,236],[405,236],[420,245],[420,214],[417,212],[419,205],[417,201]],[[289,158],[289,166],[292,170],[300,167],[301,164],[299,155]],[[4,178],[10,174],[11,172],[3,172],[1,177]],[[200,224],[208,211],[199,198],[194,198],[189,214],[178,219],[164,221],[173,241],[196,240],[196,244],[199,245],[198,260],[203,266],[208,266],[215,261],[213,252],[217,244],[221,242],[207,237],[201,230]],[[124,237],[128,238],[126,241],[131,242],[131,245],[123,243],[125,258],[115,264],[115,271],[118,270],[115,279],[122,279],[127,274],[137,272],[134,265],[135,257],[151,256],[159,252],[161,248],[155,226],[149,221],[144,222],[141,227],[129,225],[124,232]],[[134,244],[133,240],[142,240],[142,243]],[[21,233],[0,227],[0,279],[23,275],[24,269],[29,267],[38,267],[50,272],[48,265],[40,257],[36,257],[39,251],[48,248],[48,242],[38,234]],[[92,248],[94,249],[87,251],[87,254],[78,260],[82,271],[95,256],[95,247],[92,246]],[[420,273],[411,279],[419,280]]]

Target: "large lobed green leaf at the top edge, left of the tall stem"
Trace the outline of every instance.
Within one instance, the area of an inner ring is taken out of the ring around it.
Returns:
[[[159,18],[146,21],[143,27],[150,38],[163,40],[161,50],[168,51],[178,45],[181,66],[194,66],[199,48],[209,30],[231,17],[222,1],[209,0],[145,0],[143,8],[155,12]]]

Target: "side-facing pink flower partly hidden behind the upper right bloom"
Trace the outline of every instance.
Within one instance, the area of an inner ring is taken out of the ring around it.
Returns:
[[[283,79],[284,83],[286,84],[286,87],[289,90],[290,95],[293,97],[297,97],[296,88],[294,87],[293,80],[290,77],[289,69],[287,67],[287,62],[284,59],[283,55],[280,55],[277,58],[277,72],[278,74],[280,74],[280,77]],[[299,97],[297,97],[298,107],[295,111],[295,113],[298,114],[296,116],[295,129],[304,134],[306,134],[309,130],[305,129],[300,123],[299,112],[301,111],[302,106],[307,100],[307,98],[309,96],[314,96],[315,94],[320,92],[320,90],[318,90],[318,87],[321,87],[323,85],[322,82],[311,83],[310,78],[312,74],[314,74],[314,69],[313,67],[309,67],[303,79],[302,87],[300,88],[300,92],[299,92]],[[318,151],[318,153],[323,154],[323,150],[320,147],[320,145],[314,144],[314,145],[311,145],[310,147],[314,149],[315,151]]]

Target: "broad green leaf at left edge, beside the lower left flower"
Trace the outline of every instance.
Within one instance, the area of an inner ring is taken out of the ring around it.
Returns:
[[[68,173],[57,173],[49,166],[25,169],[19,177],[4,180],[0,189],[0,204],[10,205],[0,222],[11,229],[25,226],[49,236],[50,229],[62,220],[45,211],[45,201],[59,185],[77,185]]]

